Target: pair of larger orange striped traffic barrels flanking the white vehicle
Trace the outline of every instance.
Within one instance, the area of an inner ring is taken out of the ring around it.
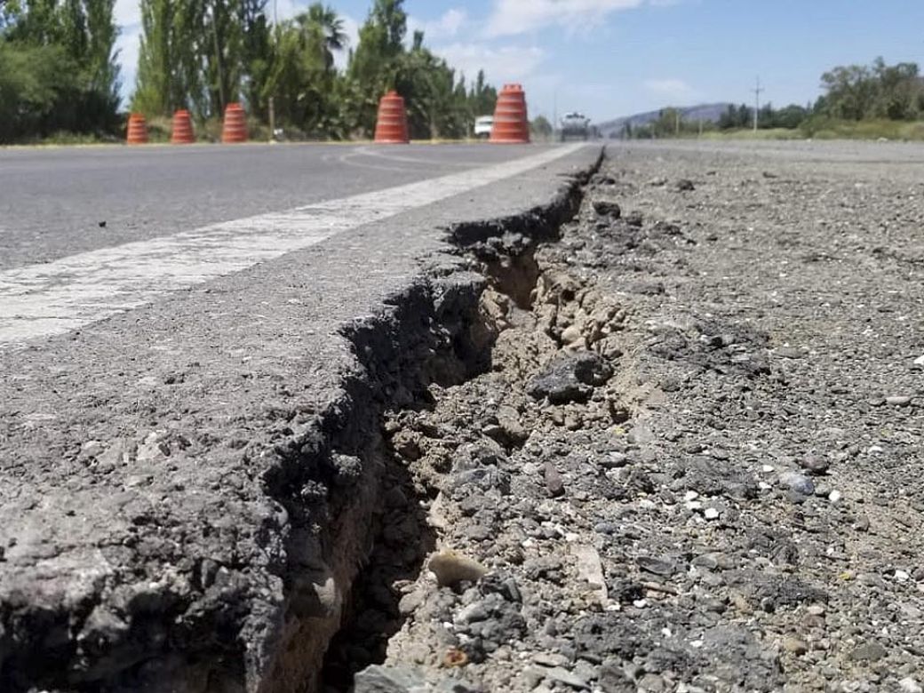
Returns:
[[[379,103],[375,141],[380,144],[407,144],[407,109],[396,91],[389,91]],[[529,144],[529,115],[526,93],[519,84],[505,84],[497,96],[491,140],[495,144]]]

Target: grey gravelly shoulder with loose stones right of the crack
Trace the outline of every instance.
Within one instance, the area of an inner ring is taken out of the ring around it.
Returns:
[[[557,242],[469,246],[490,368],[386,422],[416,497],[328,689],[920,691],[922,200],[618,150]]]

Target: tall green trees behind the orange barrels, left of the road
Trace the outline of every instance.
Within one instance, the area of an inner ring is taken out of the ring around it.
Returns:
[[[129,110],[152,139],[178,108],[197,132],[220,131],[228,103],[243,103],[254,133],[293,139],[369,137],[380,97],[406,99],[415,139],[467,137],[492,114],[497,91],[434,55],[420,31],[407,35],[404,0],[373,0],[359,42],[343,19],[314,3],[271,21],[268,0],[140,0],[138,79]],[[0,143],[119,140],[115,0],[0,0]],[[346,67],[334,55],[348,51]],[[168,131],[168,129],[167,129]]]

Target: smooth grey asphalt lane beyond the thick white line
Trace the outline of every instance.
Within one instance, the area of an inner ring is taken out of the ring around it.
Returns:
[[[541,149],[249,144],[0,150],[0,270],[499,164]]]

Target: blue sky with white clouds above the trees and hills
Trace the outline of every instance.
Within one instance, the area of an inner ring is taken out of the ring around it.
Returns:
[[[327,0],[355,45],[371,0]],[[306,0],[269,0],[280,20]],[[408,37],[472,79],[518,82],[529,115],[596,122],[668,105],[805,104],[831,67],[917,62],[924,0],[406,0]],[[116,0],[123,94],[133,91],[139,0]],[[340,55],[342,65],[346,55]]]

